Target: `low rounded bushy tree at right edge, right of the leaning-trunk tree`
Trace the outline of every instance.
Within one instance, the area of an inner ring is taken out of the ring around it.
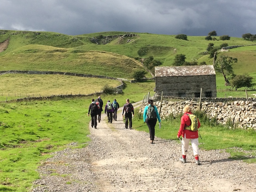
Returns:
[[[243,75],[236,75],[234,78],[230,80],[230,83],[232,88],[234,87],[236,90],[241,87],[252,87],[253,77],[251,77],[247,73]]]

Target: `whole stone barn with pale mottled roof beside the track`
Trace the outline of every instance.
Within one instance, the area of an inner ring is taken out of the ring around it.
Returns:
[[[156,92],[171,97],[217,97],[213,65],[155,67]]]

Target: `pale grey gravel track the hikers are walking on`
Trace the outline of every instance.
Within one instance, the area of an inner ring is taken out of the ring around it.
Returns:
[[[255,164],[229,159],[224,150],[200,150],[198,166],[191,146],[183,164],[179,142],[155,138],[150,144],[148,133],[125,129],[122,108],[118,112],[113,123],[102,114],[97,129],[88,125],[87,147],[55,152],[43,162],[31,191],[256,192]]]

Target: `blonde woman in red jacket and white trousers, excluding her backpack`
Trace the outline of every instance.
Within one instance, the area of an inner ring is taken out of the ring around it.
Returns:
[[[181,126],[180,130],[178,131],[177,137],[180,139],[182,136],[182,157],[179,159],[182,163],[186,163],[186,155],[187,149],[189,145],[189,141],[191,141],[191,146],[194,151],[194,156],[196,159],[196,164],[199,165],[199,148],[198,148],[198,131],[191,131],[191,120],[188,115],[193,114],[191,112],[191,108],[186,105],[183,109],[184,115],[181,117]],[[199,119],[197,118],[197,129],[200,127]],[[189,128],[190,127],[190,128]],[[189,130],[190,129],[190,130]]]

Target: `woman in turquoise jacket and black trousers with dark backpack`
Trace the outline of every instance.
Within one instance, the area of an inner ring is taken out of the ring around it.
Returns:
[[[158,119],[158,121],[160,123],[161,119],[160,119],[160,116],[159,116],[156,106],[153,105],[152,99],[148,100],[148,104],[149,105],[147,105],[144,109],[143,120],[145,123],[147,123],[147,127],[150,132],[150,143],[153,144],[154,138],[155,138],[156,122]]]

